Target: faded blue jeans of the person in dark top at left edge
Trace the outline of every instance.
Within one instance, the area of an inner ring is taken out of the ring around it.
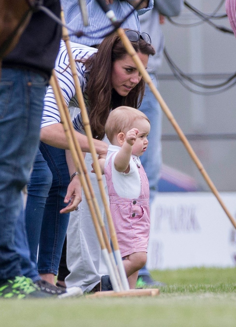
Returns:
[[[0,280],[33,269],[21,190],[29,180],[39,142],[45,78],[3,68],[0,81]],[[19,251],[20,249],[20,251]]]

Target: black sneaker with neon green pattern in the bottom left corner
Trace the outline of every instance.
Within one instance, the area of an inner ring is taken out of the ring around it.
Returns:
[[[16,276],[14,279],[8,279],[0,285],[0,299],[47,297],[50,297],[50,295],[42,292],[30,278],[25,276]]]

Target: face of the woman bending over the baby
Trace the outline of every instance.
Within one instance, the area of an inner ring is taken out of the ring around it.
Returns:
[[[148,64],[148,55],[137,52],[145,68]],[[136,68],[133,59],[127,54],[123,59],[113,62],[111,72],[112,88],[121,96],[126,96],[140,82],[142,76]]]

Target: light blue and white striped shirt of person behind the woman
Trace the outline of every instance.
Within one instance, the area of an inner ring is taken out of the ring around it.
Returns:
[[[144,14],[146,11],[153,8],[154,0],[149,0],[148,8],[134,11],[121,25],[122,28],[131,28],[137,31],[140,30],[138,15]],[[77,37],[70,33],[70,40],[76,43],[86,45],[100,44],[104,36],[113,30],[111,22],[104,14],[96,0],[86,0],[86,9],[89,18],[89,26],[83,26],[81,10],[78,0],[61,0],[64,10],[65,21],[68,27],[75,31],[83,31],[85,36]],[[114,0],[112,5],[109,5],[118,19],[123,20],[133,9],[127,1]]]

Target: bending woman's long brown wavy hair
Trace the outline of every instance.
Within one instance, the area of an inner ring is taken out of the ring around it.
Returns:
[[[154,55],[152,45],[141,38],[132,42],[136,52],[145,55]],[[107,36],[99,45],[98,52],[85,61],[89,72],[86,93],[89,102],[89,121],[94,138],[102,140],[105,131],[104,126],[111,109],[124,105],[138,108],[142,102],[145,90],[143,79],[126,96],[118,95],[112,90],[111,71],[113,62],[127,55],[119,36],[113,33]]]

